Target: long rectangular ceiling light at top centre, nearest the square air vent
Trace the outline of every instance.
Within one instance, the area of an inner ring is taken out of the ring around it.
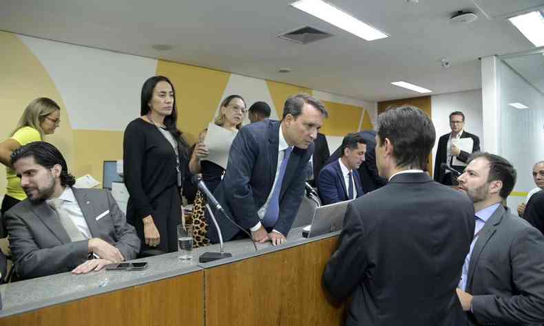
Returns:
[[[291,3],[291,6],[335,25],[337,28],[342,28],[342,30],[359,36],[366,41],[388,37],[388,34],[359,21],[359,19],[351,16],[351,14],[347,14],[330,3],[321,0],[299,0]]]

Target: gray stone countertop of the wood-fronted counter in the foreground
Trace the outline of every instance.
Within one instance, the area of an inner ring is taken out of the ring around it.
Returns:
[[[218,252],[220,250],[218,244],[193,249],[193,259],[191,261],[178,259],[178,252],[134,260],[149,263],[147,269],[142,271],[106,271],[104,269],[84,275],[74,275],[67,272],[0,285],[2,299],[0,318],[74,301],[87,296],[189,274],[205,268],[213,268],[218,265],[260,256],[268,252],[284,250],[304,243],[334,237],[338,234],[339,231],[306,239],[302,237],[302,228],[293,228],[289,232],[287,242],[282,246],[272,246],[270,242],[255,243],[258,248],[258,251],[255,251],[253,241],[250,239],[226,242],[224,243],[224,252],[229,252],[233,257],[210,263],[199,263],[198,257],[204,252]]]

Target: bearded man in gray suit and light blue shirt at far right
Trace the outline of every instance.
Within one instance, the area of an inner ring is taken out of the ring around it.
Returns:
[[[476,211],[457,288],[469,325],[544,323],[544,237],[501,205],[516,183],[514,166],[478,153],[457,180]]]

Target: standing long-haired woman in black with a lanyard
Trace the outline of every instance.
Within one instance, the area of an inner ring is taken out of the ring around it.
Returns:
[[[164,76],[142,87],[140,117],[125,129],[123,174],[129,191],[127,221],[143,243],[140,252],[178,250],[180,189],[187,171],[188,145],[176,127],[174,85]]]

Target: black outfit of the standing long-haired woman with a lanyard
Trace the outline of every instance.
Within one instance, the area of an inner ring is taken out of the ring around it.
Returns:
[[[187,159],[181,155],[180,164],[185,171]],[[123,138],[123,174],[130,195],[127,221],[142,241],[140,252],[178,250],[176,226],[182,223],[182,215],[176,153],[154,124],[140,118],[128,124]],[[145,244],[142,219],[148,215],[153,217],[160,235],[157,247]]]

